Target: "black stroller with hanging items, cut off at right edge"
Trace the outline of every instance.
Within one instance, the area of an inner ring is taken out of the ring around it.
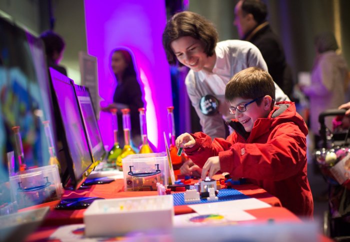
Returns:
[[[325,125],[325,117],[343,116],[344,113],[345,110],[327,109],[319,114],[322,148],[313,152],[321,174],[328,183],[328,210],[323,216],[323,233],[337,241],[350,240],[350,167],[345,167],[344,163],[350,164],[350,148],[347,142],[350,128],[343,129],[339,125],[330,132]],[[335,171],[342,164],[344,165],[341,168],[345,173],[342,170],[339,174],[345,176],[340,180]]]

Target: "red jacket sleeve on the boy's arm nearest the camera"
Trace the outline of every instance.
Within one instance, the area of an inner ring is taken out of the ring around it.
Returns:
[[[295,175],[306,163],[306,137],[293,123],[281,123],[266,143],[241,143],[219,152],[222,172],[235,177],[281,180]]]

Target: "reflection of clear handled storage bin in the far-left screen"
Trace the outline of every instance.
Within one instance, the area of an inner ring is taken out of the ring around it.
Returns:
[[[18,208],[58,200],[63,192],[56,164],[28,169],[9,177],[12,201]]]

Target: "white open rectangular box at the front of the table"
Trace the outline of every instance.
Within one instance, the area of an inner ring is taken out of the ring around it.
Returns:
[[[131,231],[163,230],[173,224],[171,195],[95,200],[84,212],[85,235],[118,236]]]

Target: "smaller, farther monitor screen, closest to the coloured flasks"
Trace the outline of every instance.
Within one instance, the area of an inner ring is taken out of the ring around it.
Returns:
[[[74,87],[93,159],[94,161],[100,161],[103,159],[105,150],[89,90],[87,87],[81,85],[74,85]]]

